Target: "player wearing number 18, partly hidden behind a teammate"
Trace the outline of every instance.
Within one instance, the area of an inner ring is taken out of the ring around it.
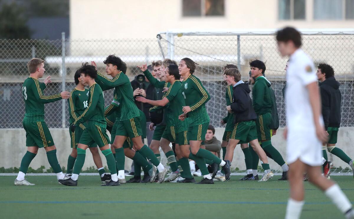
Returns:
[[[70,98],[68,99],[70,124],[73,123],[82,113],[84,113],[85,109],[88,106],[87,100],[89,99],[89,96],[87,94],[89,93],[89,90],[85,88],[85,86],[87,85],[84,84],[80,76],[80,72],[79,70],[77,70],[74,74],[74,81],[76,87],[70,92]],[[69,178],[73,173],[74,163],[76,157],[78,156],[78,151],[76,148],[79,144],[79,140],[84,129],[84,124],[80,124],[78,127],[76,127],[75,132],[72,132],[69,129],[72,152],[68,157],[68,168],[65,177]],[[111,176],[109,174],[106,174],[104,171],[102,160],[99,156],[97,144],[89,145],[89,149],[92,154],[93,162],[95,163],[98,169],[101,181],[104,182],[105,180],[110,180]]]

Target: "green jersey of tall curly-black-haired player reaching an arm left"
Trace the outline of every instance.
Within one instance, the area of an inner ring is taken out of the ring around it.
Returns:
[[[100,86],[102,83],[104,86],[106,86],[106,88],[115,89],[115,93],[120,100],[119,121],[129,120],[140,115],[139,109],[134,102],[133,88],[130,84],[129,78],[124,73],[122,73],[122,71],[118,73],[113,79],[108,79],[98,72],[96,80],[100,82]]]

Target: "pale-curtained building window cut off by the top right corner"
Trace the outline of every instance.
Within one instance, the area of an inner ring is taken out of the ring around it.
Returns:
[[[314,20],[354,19],[354,0],[314,0]]]

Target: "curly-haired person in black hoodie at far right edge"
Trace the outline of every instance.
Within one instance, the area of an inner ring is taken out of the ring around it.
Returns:
[[[341,149],[336,148],[337,135],[339,126],[341,125],[341,91],[339,91],[339,82],[334,77],[334,70],[331,65],[321,63],[317,67],[317,78],[320,81],[320,94],[322,103],[322,116],[325,123],[325,129],[328,134],[328,142],[322,145],[322,163],[324,174],[328,177],[331,174],[333,164],[328,161],[327,150],[339,157],[342,161],[349,164],[353,169],[353,160]]]

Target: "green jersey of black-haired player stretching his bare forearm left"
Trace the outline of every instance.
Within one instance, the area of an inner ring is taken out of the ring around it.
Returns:
[[[188,131],[190,126],[190,119],[186,118],[184,121],[178,119],[178,116],[183,114],[182,107],[185,106],[185,98],[182,94],[182,83],[179,80],[173,82],[167,92],[166,98],[169,100],[170,104],[168,109],[172,111],[173,120],[175,121],[177,127],[177,133]]]

